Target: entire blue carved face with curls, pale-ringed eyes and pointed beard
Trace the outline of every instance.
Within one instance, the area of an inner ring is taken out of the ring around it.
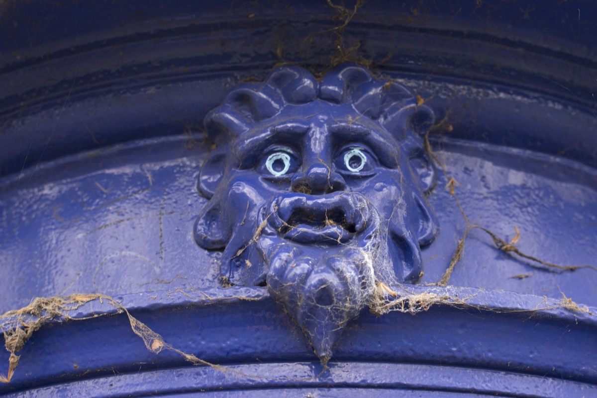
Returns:
[[[325,362],[376,281],[413,282],[436,223],[420,134],[432,111],[401,86],[342,66],[241,86],[206,119],[219,142],[199,176],[195,239],[224,248],[225,285],[267,285]]]

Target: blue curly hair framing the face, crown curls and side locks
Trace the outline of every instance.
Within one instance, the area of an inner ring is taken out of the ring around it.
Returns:
[[[237,219],[238,214],[261,214],[250,211],[250,206],[257,209],[263,203],[257,203],[256,198],[261,198],[259,195],[247,195],[247,201],[245,198],[240,201],[229,200],[231,194],[238,198],[244,194],[243,189],[248,189],[242,188],[246,185],[244,182],[244,185],[236,186],[238,191],[222,185],[231,181],[235,170],[242,169],[235,166],[238,154],[233,145],[241,144],[245,134],[254,137],[266,130],[275,133],[273,129],[277,126],[276,122],[285,123],[288,114],[300,115],[300,111],[294,110],[300,110],[307,104],[314,105],[307,108],[319,108],[321,105],[322,110],[334,114],[334,107],[338,107],[337,114],[344,116],[347,113],[350,120],[354,120],[352,116],[366,117],[371,121],[366,123],[367,128],[380,130],[384,140],[388,139],[387,145],[392,147],[392,156],[386,157],[394,161],[384,163],[382,159],[380,163],[389,169],[399,169],[392,176],[400,176],[396,184],[404,185],[402,192],[406,192],[401,203],[408,206],[412,215],[406,218],[390,216],[383,227],[388,232],[387,237],[385,241],[381,238],[376,240],[377,246],[372,253],[383,253],[383,256],[374,256],[378,259],[378,268],[390,263],[389,260],[380,260],[382,257],[392,257],[396,280],[416,280],[421,270],[420,246],[429,244],[437,231],[435,214],[425,197],[435,185],[435,167],[429,162],[423,148],[423,135],[429,131],[435,116],[429,107],[419,105],[417,98],[403,86],[392,80],[376,79],[364,67],[353,64],[338,66],[321,80],[300,67],[279,67],[262,83],[244,83],[233,88],[223,103],[205,117],[205,130],[208,137],[216,142],[216,149],[199,172],[198,190],[210,202],[195,224],[195,240],[201,247],[210,250],[226,248],[221,260],[223,277],[232,275],[230,269],[244,267],[244,260],[236,257],[243,252],[242,247],[246,247],[247,242],[253,242],[256,232],[247,226],[237,228],[245,223],[244,217],[242,222]],[[383,145],[386,145],[385,141]],[[244,172],[244,169],[241,171]],[[281,188],[282,191],[284,189]],[[260,200],[267,201],[267,198]],[[257,221],[253,219],[252,223]],[[390,247],[388,241],[392,242]],[[257,270],[261,272],[264,269],[251,268],[251,272]],[[259,276],[263,275],[259,273]]]

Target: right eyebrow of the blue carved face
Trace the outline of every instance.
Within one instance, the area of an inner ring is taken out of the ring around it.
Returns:
[[[332,134],[334,147],[351,141],[362,142],[376,153],[384,166],[390,169],[399,166],[398,143],[389,134],[356,123],[331,125],[328,130]]]

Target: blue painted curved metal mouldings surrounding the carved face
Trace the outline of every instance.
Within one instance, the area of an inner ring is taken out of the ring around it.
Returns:
[[[439,232],[421,250],[424,275],[391,288],[447,298],[416,315],[359,312],[327,371],[269,285],[255,286],[263,275],[222,288],[226,256],[199,247],[193,231],[211,203],[196,187],[201,166],[215,164],[205,116],[279,61],[323,71],[336,38],[318,32],[333,27],[334,10],[315,1],[2,3],[0,312],[32,297],[103,293],[171,347],[227,368],[193,366],[162,347],[156,355],[155,339],[146,346],[119,307],[93,300],[64,313],[79,320],[58,317],[33,333],[0,394],[596,395],[595,270],[553,272],[473,230],[450,286],[425,284],[439,281],[466,228],[444,191],[451,177],[472,222],[507,241],[517,226],[516,245],[540,259],[595,266],[597,7],[438,3],[371,1],[344,41],[360,42],[355,54],[373,60],[376,79],[435,113],[430,142],[444,168],[427,199]],[[323,102],[300,106],[313,108],[301,116],[334,113]],[[330,166],[349,156],[360,167],[351,151]],[[303,170],[299,154],[287,172]],[[269,168],[281,172],[285,159]],[[271,173],[263,160],[256,171]],[[231,215],[242,217],[246,202],[237,205]],[[0,366],[8,357],[0,353]]]

